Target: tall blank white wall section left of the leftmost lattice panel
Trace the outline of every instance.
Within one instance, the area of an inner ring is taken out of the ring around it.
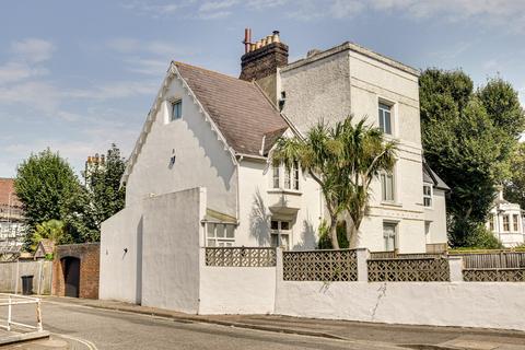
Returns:
[[[142,305],[197,313],[206,189],[144,200]]]

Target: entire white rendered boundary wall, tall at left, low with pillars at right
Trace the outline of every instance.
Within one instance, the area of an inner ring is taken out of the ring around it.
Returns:
[[[283,281],[276,267],[206,265],[206,190],[145,199],[103,224],[101,299],[190,314],[280,314],[410,325],[525,331],[525,282],[463,282],[462,259],[450,258],[452,282],[368,282],[358,249],[357,282]]]

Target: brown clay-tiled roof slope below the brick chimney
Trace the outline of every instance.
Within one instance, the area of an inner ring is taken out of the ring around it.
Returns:
[[[226,142],[236,152],[260,155],[288,128],[280,113],[252,82],[186,63],[174,62]],[[279,133],[280,132],[280,133]],[[268,142],[269,141],[269,142]]]

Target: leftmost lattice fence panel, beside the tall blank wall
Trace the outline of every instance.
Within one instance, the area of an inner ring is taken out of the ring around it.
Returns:
[[[209,247],[206,248],[206,266],[221,267],[273,267],[275,248]]]

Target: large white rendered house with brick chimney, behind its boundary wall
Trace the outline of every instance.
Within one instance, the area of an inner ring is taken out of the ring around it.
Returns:
[[[277,32],[245,42],[240,79],[171,63],[122,178],[126,208],[139,208],[129,212],[140,215],[148,198],[201,187],[206,246],[313,249],[326,218],[319,188],[299,166],[271,166],[269,154],[280,137],[353,114],[398,140],[399,152],[394,172],[373,183],[352,246],[446,247],[447,187],[423,166],[418,71],[350,43],[288,63]],[[103,225],[103,245],[105,234]]]

